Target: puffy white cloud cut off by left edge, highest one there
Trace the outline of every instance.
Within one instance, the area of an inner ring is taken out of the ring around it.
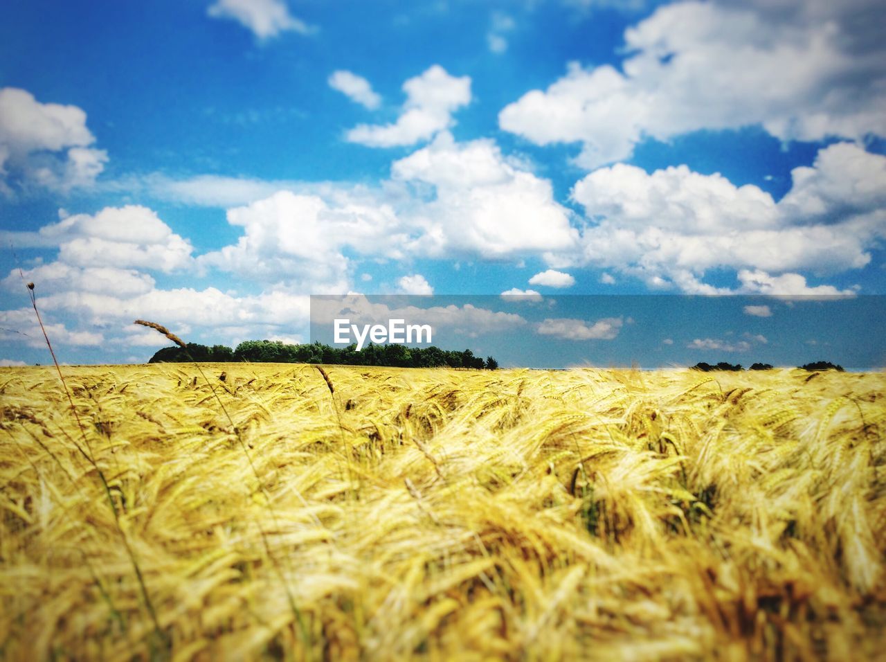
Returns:
[[[27,90],[0,90],[0,192],[39,186],[66,193],[88,187],[107,153],[75,105],[42,104]]]

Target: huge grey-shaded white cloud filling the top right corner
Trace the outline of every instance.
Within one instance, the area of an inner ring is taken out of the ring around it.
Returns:
[[[884,18],[873,0],[668,4],[626,30],[621,71],[571,63],[499,123],[535,144],[580,143],[587,169],[627,159],[646,136],[698,129],[886,135],[886,46],[871,27]]]

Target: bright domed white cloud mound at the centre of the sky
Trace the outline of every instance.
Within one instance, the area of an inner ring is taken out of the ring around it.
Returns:
[[[548,180],[502,156],[491,140],[455,143],[448,133],[396,161],[395,181],[428,189],[404,214],[423,231],[415,250],[431,256],[501,258],[564,250],[578,234]]]

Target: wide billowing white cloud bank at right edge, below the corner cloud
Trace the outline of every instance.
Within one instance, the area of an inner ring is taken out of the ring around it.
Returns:
[[[756,186],[736,187],[686,166],[651,174],[626,164],[603,167],[571,193],[589,220],[581,251],[548,261],[618,269],[653,288],[697,294],[736,291],[703,282],[714,268],[735,269],[738,292],[840,293],[808,287],[801,272],[828,276],[871,261],[871,249],[886,237],[876,191],[884,164],[886,157],[857,145],[832,144],[812,167],[794,170],[795,187],[778,203]]]

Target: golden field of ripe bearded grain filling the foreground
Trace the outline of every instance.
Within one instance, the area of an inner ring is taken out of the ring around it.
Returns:
[[[886,650],[882,373],[202,368],[0,369],[0,658]]]

